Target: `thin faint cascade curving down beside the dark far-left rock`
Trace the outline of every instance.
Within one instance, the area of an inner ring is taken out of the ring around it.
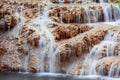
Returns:
[[[23,8],[20,5],[20,3],[16,4],[16,6],[12,6],[12,8],[15,8],[15,7],[16,7],[16,9],[15,9],[14,12],[12,11],[12,16],[15,16],[16,25],[15,25],[15,27],[12,30],[9,29],[8,32],[7,32],[7,36],[10,39],[10,41],[9,41],[10,45],[9,45],[9,48],[8,48],[8,51],[7,51],[7,54],[8,54],[8,64],[10,66],[13,66],[11,64],[14,61],[14,59],[11,58],[10,52],[13,52],[12,50],[14,50],[16,52],[16,54],[18,54],[18,51],[16,51],[18,49],[18,47],[16,47],[14,45],[14,43],[16,43],[16,42],[12,41],[12,39],[18,38],[18,36],[19,36],[19,34],[20,34],[21,30],[22,30],[22,27],[23,27],[23,25],[25,23],[25,20],[26,20],[25,17],[23,16],[24,11],[23,11]],[[27,48],[27,46],[25,46],[25,48]],[[14,56],[12,56],[12,57],[14,57]],[[26,69],[27,65],[26,64],[23,65],[23,63],[25,63],[27,58],[25,60],[19,60],[19,54],[16,57],[17,57],[18,63],[19,63],[18,64],[18,68],[19,68],[18,72],[21,72],[21,67],[24,67],[24,69],[27,70]]]

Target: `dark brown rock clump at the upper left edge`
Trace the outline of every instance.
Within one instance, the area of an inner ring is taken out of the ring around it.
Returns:
[[[10,4],[0,3],[0,29],[12,29],[17,24],[14,9]]]

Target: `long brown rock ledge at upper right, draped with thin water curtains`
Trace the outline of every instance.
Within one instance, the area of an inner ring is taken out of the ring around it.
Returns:
[[[59,23],[110,22],[120,18],[119,7],[108,3],[63,4],[49,9],[49,17]]]

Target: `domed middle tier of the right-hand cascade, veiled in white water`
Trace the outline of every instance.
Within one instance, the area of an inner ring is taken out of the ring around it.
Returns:
[[[114,49],[117,43],[110,41],[103,41],[93,48],[93,52],[90,52],[89,57],[93,57],[94,60],[101,59],[103,57],[114,56]]]

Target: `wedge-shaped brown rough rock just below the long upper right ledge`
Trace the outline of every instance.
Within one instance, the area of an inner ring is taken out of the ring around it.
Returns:
[[[89,31],[90,29],[92,29],[92,27],[88,25],[67,24],[67,25],[61,25],[57,27],[53,31],[53,34],[55,34],[54,36],[56,40],[61,40],[61,39],[68,39],[68,38],[75,37],[80,33]]]

